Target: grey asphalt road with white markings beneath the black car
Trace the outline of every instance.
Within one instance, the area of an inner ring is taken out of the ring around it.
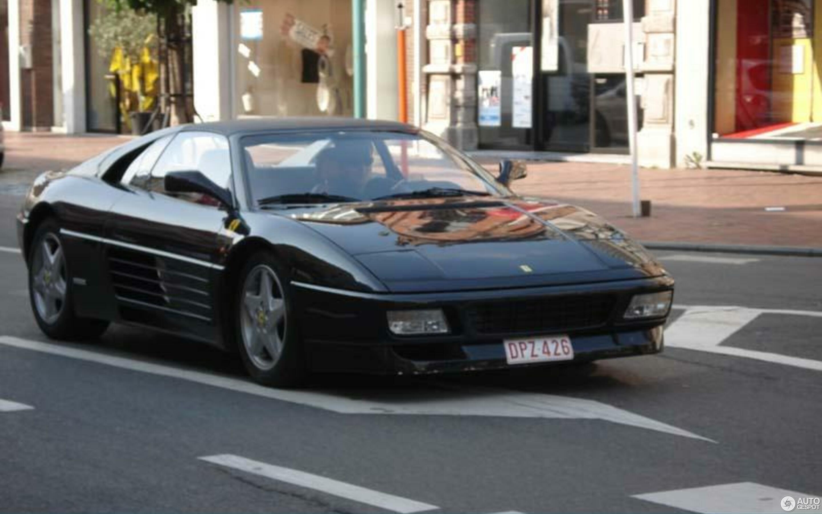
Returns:
[[[659,252],[678,306],[661,355],[278,391],[148,331],[46,340],[8,249],[20,201],[0,194],[0,511],[783,512],[822,494],[820,258]]]

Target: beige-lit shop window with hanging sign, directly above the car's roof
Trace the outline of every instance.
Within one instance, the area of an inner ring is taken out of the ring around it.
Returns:
[[[351,116],[351,2],[237,2],[236,112]]]

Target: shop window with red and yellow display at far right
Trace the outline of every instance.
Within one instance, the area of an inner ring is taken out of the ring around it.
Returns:
[[[717,0],[714,137],[822,132],[822,0]]]

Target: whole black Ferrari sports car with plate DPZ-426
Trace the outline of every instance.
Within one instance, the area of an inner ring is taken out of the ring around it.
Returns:
[[[172,127],[36,179],[17,217],[35,319],[238,351],[258,382],[663,349],[672,277],[580,207],[519,197],[400,123]]]

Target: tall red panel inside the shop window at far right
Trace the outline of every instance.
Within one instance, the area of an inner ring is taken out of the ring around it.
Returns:
[[[737,132],[770,120],[770,0],[741,0],[737,7]]]

